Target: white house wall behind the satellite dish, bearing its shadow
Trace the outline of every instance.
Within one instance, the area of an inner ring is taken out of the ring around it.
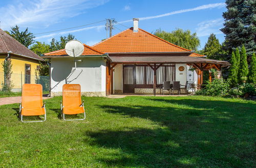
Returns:
[[[103,58],[77,58],[77,69],[73,58],[51,59],[51,96],[61,95],[62,86],[79,84],[84,96],[105,96],[106,63]]]

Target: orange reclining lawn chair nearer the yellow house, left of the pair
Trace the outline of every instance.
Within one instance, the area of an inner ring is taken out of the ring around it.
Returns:
[[[44,120],[23,121],[23,116],[45,115]],[[46,121],[46,106],[42,104],[42,86],[40,84],[24,84],[22,88],[22,103],[19,103],[20,120],[24,123]]]

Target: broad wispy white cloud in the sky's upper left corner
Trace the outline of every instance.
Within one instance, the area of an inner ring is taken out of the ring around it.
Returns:
[[[103,5],[108,0],[33,0],[18,1],[0,8],[3,25],[40,24],[47,26],[64,18],[74,17],[84,9]]]

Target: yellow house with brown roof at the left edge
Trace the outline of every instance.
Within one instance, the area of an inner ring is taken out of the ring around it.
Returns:
[[[5,81],[2,63],[6,60],[12,64],[13,92],[21,91],[24,83],[35,83],[36,71],[43,59],[0,29],[0,90]]]

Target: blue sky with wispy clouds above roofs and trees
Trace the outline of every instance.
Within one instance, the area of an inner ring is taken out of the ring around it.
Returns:
[[[70,33],[91,46],[106,38],[105,19],[117,21],[115,35],[132,27],[133,18],[139,18],[139,28],[150,33],[177,28],[196,32],[201,49],[211,33],[224,41],[220,29],[225,11],[224,0],[1,0],[0,28],[10,30],[17,24],[24,31],[28,27],[35,41],[46,43]]]

